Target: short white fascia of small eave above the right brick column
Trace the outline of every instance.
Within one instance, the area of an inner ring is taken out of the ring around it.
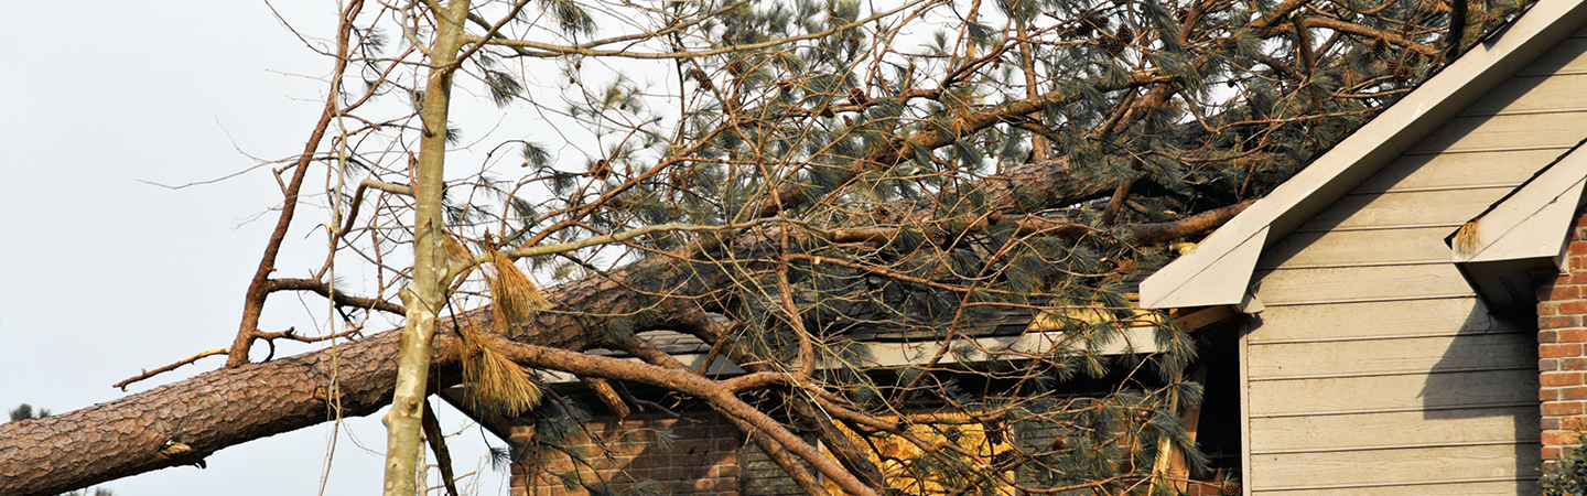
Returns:
[[[1454,261],[1560,258],[1587,186],[1587,149],[1577,146],[1474,223],[1476,248]]]

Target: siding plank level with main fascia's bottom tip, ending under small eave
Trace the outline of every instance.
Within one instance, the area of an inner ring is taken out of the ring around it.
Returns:
[[[1362,302],[1476,294],[1454,264],[1284,269],[1257,272],[1265,305]]]

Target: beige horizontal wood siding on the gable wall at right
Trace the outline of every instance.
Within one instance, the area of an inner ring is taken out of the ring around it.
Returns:
[[[1560,45],[1268,246],[1241,337],[1247,494],[1536,494],[1536,327],[1444,237],[1587,138]]]

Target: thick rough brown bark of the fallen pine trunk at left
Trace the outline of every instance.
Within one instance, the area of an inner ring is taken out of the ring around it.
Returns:
[[[632,299],[616,285],[587,280],[557,289],[548,296],[565,305],[632,310],[616,304]],[[479,313],[489,318],[489,312]],[[533,326],[538,332],[516,332],[521,342],[584,350],[605,335],[568,313],[541,315]],[[338,393],[341,417],[375,413],[392,399],[398,337],[397,331],[379,332],[330,350],[200,374],[56,417],[3,423],[0,494],[59,494],[197,464],[230,445],[336,418],[327,402],[330,391]],[[433,367],[454,362],[449,345],[436,342]]]

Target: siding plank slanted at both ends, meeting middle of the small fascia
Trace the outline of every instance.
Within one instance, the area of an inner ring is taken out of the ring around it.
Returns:
[[[1519,186],[1568,151],[1570,146],[1401,156],[1355,192]]]

